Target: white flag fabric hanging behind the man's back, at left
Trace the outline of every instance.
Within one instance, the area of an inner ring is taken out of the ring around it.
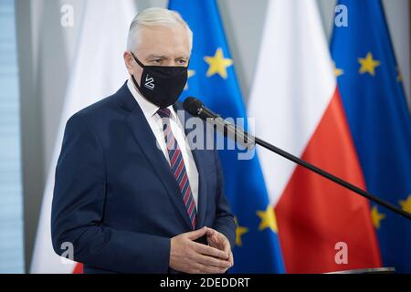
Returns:
[[[75,262],[58,256],[51,244],[51,202],[64,128],[74,113],[111,95],[128,78],[122,54],[136,12],[132,0],[84,1],[77,53],[43,194],[31,273],[72,273],[76,266]]]

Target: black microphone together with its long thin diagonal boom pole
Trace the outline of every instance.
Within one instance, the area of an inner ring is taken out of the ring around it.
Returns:
[[[248,135],[248,132],[245,130],[242,130],[240,128],[237,128],[236,125],[233,125],[232,123],[229,123],[225,120],[223,120],[219,115],[217,115],[215,112],[207,109],[203,102],[201,102],[199,99],[195,99],[193,97],[187,98],[184,100],[183,103],[183,108],[184,110],[187,110],[189,113],[191,113],[195,117],[199,117],[202,120],[205,120],[207,122],[215,122],[217,125],[218,130],[222,130],[224,135],[227,137],[230,137],[232,139],[236,139],[236,137],[240,137],[242,141],[246,141],[243,145],[246,147],[254,147],[255,144],[258,144],[269,151],[272,151],[274,153],[279,154],[280,156],[288,159],[291,162],[297,163],[300,166],[310,170],[311,172],[315,172],[322,177],[332,181],[333,183],[337,183],[341,185],[342,187],[354,192],[358,193],[359,195],[367,198],[368,200],[373,201],[374,203],[378,203],[382,206],[384,206],[386,209],[390,210],[391,212],[394,212],[395,214],[400,214],[403,217],[405,217],[408,220],[411,220],[411,214],[406,212],[403,209],[398,208],[395,206],[393,203],[385,202],[383,199],[378,198],[374,194],[367,193],[364,190],[360,189],[359,187],[353,185],[352,183],[345,182],[341,178],[331,174],[330,172],[325,172],[321,168],[301,160],[299,157],[292,155],[291,153],[287,151],[283,151],[282,149],[279,149],[278,147],[270,144],[267,141],[263,141],[259,139],[258,137],[253,137],[251,135]],[[219,129],[221,127],[221,129]],[[233,138],[234,137],[234,138]],[[237,141],[237,140],[236,140]],[[241,143],[241,141],[237,141]],[[247,146],[249,144],[249,146]]]

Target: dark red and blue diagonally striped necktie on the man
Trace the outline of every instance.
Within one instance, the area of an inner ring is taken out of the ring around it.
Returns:
[[[191,225],[195,229],[196,221],[196,209],[193,193],[191,192],[190,182],[188,181],[187,171],[185,170],[183,154],[180,150],[177,140],[174,137],[173,131],[170,125],[170,110],[159,109],[157,114],[163,120],[163,133],[165,139],[165,145],[168,151],[168,157],[170,158],[170,166],[174,174],[175,180],[180,187],[180,193],[183,197],[185,210],[190,218]]]

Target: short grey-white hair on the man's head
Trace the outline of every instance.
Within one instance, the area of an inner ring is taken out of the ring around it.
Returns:
[[[132,25],[129,29],[127,38],[127,49],[133,51],[136,49],[139,42],[139,31],[147,26],[168,26],[174,27],[182,25],[185,27],[188,36],[190,51],[193,47],[193,32],[184,21],[184,19],[175,11],[164,8],[147,8],[142,10],[137,16],[132,19]]]

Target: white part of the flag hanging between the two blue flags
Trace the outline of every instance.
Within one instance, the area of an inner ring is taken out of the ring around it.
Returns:
[[[266,19],[248,115],[258,137],[300,156],[336,88],[332,59],[314,0],[272,0]],[[295,164],[259,157],[275,205]]]

